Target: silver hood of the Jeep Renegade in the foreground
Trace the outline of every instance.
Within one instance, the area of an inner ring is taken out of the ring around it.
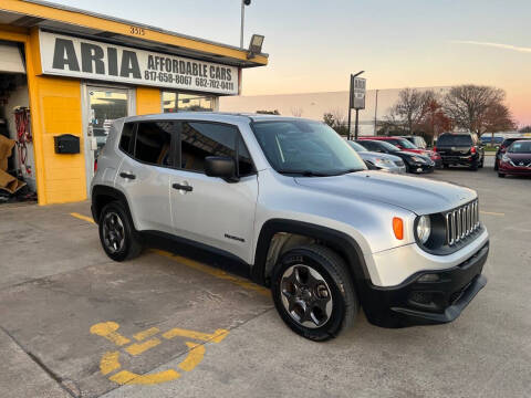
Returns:
[[[426,178],[357,171],[334,177],[295,177],[300,186],[356,200],[377,201],[417,214],[450,210],[473,200],[476,191]]]

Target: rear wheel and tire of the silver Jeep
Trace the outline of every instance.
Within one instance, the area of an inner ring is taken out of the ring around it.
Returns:
[[[122,203],[113,201],[103,208],[98,229],[103,250],[112,260],[125,261],[140,254],[140,239]]]

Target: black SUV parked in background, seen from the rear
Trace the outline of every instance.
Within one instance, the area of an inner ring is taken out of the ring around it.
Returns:
[[[464,165],[472,170],[483,167],[483,146],[475,133],[444,133],[434,150],[439,153],[444,167]]]

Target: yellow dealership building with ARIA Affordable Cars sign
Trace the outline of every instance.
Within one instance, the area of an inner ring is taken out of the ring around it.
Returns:
[[[114,119],[217,111],[221,96],[240,93],[242,69],[267,63],[267,54],[139,23],[1,0],[0,134],[17,142],[3,171],[40,205],[84,200]]]

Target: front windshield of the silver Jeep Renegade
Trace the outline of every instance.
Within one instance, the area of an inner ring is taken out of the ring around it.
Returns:
[[[252,129],[271,166],[281,174],[336,176],[365,170],[365,163],[324,123],[257,122]]]

